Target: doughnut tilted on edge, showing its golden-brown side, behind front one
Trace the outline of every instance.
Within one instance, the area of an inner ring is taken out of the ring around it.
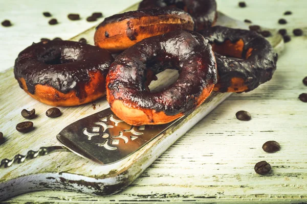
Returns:
[[[173,30],[193,30],[192,17],[177,8],[129,11],[105,18],[95,32],[95,45],[120,53],[135,43]]]

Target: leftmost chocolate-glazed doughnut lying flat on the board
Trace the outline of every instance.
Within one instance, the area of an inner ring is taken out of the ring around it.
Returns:
[[[14,65],[20,88],[41,103],[77,106],[105,95],[105,77],[114,61],[105,49],[73,41],[33,43]]]

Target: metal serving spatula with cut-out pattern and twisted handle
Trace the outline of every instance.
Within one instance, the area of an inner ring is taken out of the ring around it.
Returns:
[[[28,151],[25,156],[18,154],[12,160],[3,159],[0,168],[59,151],[72,151],[101,165],[112,164],[133,154],[178,120],[161,125],[134,126],[120,120],[108,108],[65,127],[57,135],[63,146],[40,147],[38,151]]]

